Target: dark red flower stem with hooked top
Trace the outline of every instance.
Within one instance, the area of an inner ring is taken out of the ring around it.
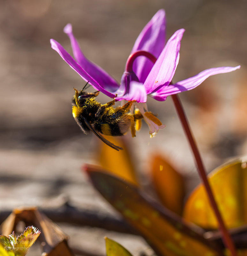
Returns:
[[[128,60],[127,60],[126,67],[125,67],[125,70],[127,72],[133,72],[132,65],[133,65],[134,60],[138,56],[146,56],[153,63],[155,63],[155,61],[157,60],[157,58],[155,58],[149,52],[137,51],[137,52],[131,54],[130,57],[128,58]],[[201,180],[202,180],[202,182],[204,184],[207,196],[208,196],[209,201],[211,203],[211,206],[213,208],[214,214],[215,214],[215,216],[217,218],[217,221],[218,221],[218,224],[219,224],[219,229],[220,229],[221,234],[222,234],[223,242],[224,242],[225,246],[231,252],[232,256],[237,256],[235,245],[233,244],[232,238],[230,237],[229,232],[228,232],[228,230],[227,230],[227,228],[225,226],[225,223],[224,223],[224,221],[222,219],[221,213],[219,211],[219,208],[218,208],[217,203],[215,201],[215,198],[213,196],[213,192],[212,192],[211,187],[209,185],[209,182],[208,182],[208,179],[207,179],[207,175],[206,175],[206,171],[205,171],[205,167],[203,165],[202,158],[200,156],[200,153],[199,153],[198,147],[196,145],[196,142],[195,142],[195,140],[193,138],[193,135],[191,133],[191,129],[190,129],[188,120],[186,118],[185,112],[183,110],[183,106],[182,106],[182,104],[181,104],[181,102],[179,100],[179,97],[176,94],[171,95],[171,97],[172,97],[173,103],[175,105],[177,114],[178,114],[178,116],[180,118],[180,121],[182,123],[184,132],[185,132],[185,134],[187,136],[187,139],[189,141],[189,144],[191,146],[191,150],[192,150],[192,152],[194,154],[194,158],[195,158],[195,161],[196,161],[198,173],[199,173],[199,175],[201,177]]]

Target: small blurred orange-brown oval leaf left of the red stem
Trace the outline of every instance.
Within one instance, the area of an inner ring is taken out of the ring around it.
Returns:
[[[154,189],[161,203],[169,210],[181,215],[184,196],[183,177],[160,155],[155,155],[151,164]]]

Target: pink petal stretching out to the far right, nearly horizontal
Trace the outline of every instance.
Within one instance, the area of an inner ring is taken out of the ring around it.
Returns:
[[[239,68],[240,68],[240,66],[209,68],[209,69],[206,69],[206,70],[200,72],[199,74],[197,74],[195,76],[192,76],[188,79],[177,82],[176,84],[162,87],[161,89],[152,93],[150,96],[158,101],[163,101],[163,100],[166,100],[167,96],[169,96],[169,95],[194,89],[195,87],[200,85],[205,79],[207,79],[211,75],[228,73],[228,72],[234,71]]]

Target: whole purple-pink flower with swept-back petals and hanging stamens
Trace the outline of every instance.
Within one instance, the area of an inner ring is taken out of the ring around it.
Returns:
[[[70,24],[64,28],[64,32],[71,40],[75,59],[53,39],[50,40],[51,47],[95,89],[111,98],[115,97],[117,100],[135,100],[135,106],[139,108],[144,120],[149,125],[151,136],[165,126],[147,111],[146,104],[142,104],[146,103],[147,95],[158,101],[164,101],[169,95],[197,87],[211,75],[227,73],[240,68],[240,66],[210,68],[193,77],[171,84],[179,61],[180,42],[184,29],[177,30],[165,45],[166,19],[164,10],[159,10],[147,23],[131,51],[131,56],[134,56],[138,50],[146,51],[151,53],[157,61],[153,64],[149,58],[144,56],[134,59],[131,59],[130,56],[126,63],[127,70],[122,76],[120,85],[101,67],[90,62],[84,56],[72,33]],[[131,71],[127,67],[130,62]]]

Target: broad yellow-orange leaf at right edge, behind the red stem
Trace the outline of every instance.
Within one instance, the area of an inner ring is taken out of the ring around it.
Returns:
[[[209,175],[214,197],[228,228],[247,224],[246,158],[236,159],[216,168]],[[189,197],[184,218],[206,229],[217,229],[218,223],[206,196],[199,185]]]

